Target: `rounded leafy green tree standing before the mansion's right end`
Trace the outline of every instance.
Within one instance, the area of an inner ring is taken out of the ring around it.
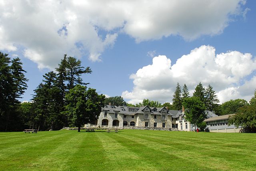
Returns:
[[[202,123],[206,118],[204,112],[206,107],[199,97],[188,97],[182,103],[185,108],[185,119],[195,127]]]

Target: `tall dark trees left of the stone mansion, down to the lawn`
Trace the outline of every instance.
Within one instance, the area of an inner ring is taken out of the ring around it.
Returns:
[[[79,127],[97,119],[104,105],[104,95],[87,88],[81,76],[91,74],[80,60],[65,54],[55,71],[46,73],[34,89],[31,102],[18,98],[28,81],[19,58],[10,61],[0,53],[0,131],[22,129],[58,130],[64,126]]]

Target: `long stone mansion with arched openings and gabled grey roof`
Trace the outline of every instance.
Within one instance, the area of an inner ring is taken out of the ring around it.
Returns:
[[[208,118],[217,116],[206,111]],[[168,107],[128,107],[105,105],[98,120],[86,124],[85,127],[100,128],[176,128],[179,131],[192,131],[192,125],[184,118],[183,110],[169,110]]]

